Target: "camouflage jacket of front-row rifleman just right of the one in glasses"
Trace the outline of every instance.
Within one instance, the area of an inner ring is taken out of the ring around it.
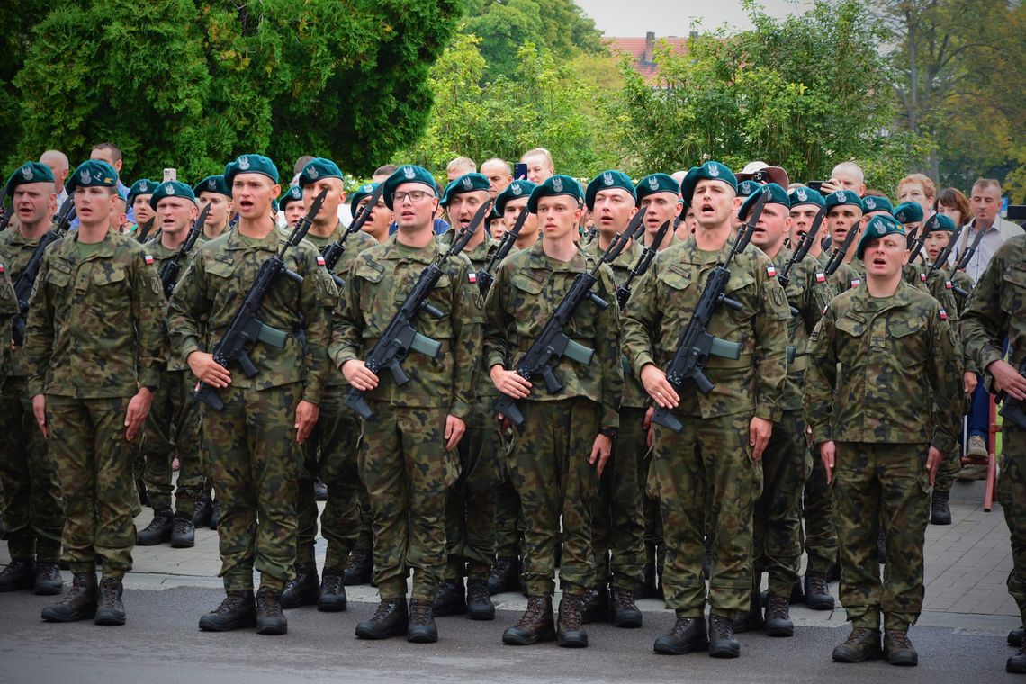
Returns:
[[[595,267],[596,259],[578,251],[569,261],[546,255],[541,243],[507,257],[496,272],[484,305],[484,356],[487,368],[513,364],[530,348],[555,312],[574,279]],[[587,366],[561,358],[553,368],[563,385],[558,394],[549,394],[545,381],[535,378],[530,399],[554,401],[587,397],[601,406],[599,425],[620,427],[620,400],[624,392],[624,370],[620,358],[620,307],[607,266],[598,270],[592,291],[608,303],[604,311],[583,301],[564,332],[585,347],[595,350]]]

